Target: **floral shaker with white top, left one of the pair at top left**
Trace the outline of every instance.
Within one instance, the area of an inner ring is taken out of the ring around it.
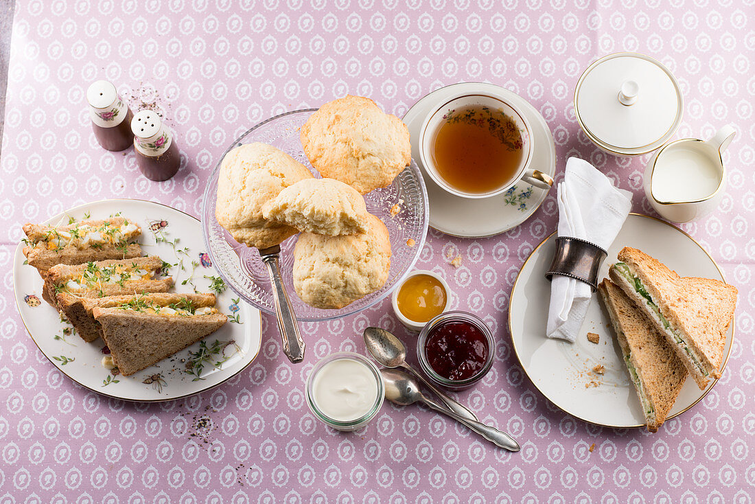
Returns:
[[[134,141],[128,105],[121,100],[111,82],[93,82],[87,90],[89,116],[97,142],[107,150],[128,149]]]

